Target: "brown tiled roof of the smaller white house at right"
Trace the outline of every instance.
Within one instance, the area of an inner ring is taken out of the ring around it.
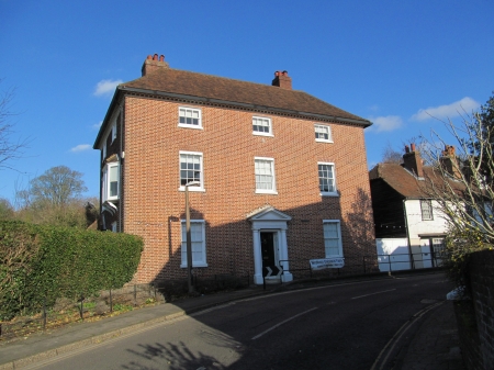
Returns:
[[[398,164],[379,164],[369,171],[369,179],[382,179],[391,188],[396,190],[400,194],[409,199],[429,198],[426,192],[422,190],[425,187],[425,181],[441,183],[441,178],[435,175],[433,167],[424,166],[424,179],[417,179],[412,172],[406,170]],[[453,189],[461,190],[463,186],[461,182],[449,180]]]

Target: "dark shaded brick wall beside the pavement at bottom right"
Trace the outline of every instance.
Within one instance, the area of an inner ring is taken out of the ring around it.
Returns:
[[[494,369],[494,250],[471,255],[472,301],[457,302],[461,349],[469,369]]]

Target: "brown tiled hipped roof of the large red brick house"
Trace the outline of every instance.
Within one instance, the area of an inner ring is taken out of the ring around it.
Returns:
[[[248,104],[254,105],[251,108],[255,109],[282,110],[301,115],[306,115],[306,113],[325,115],[343,119],[343,121],[349,120],[363,126],[371,124],[368,120],[328,104],[303,91],[172,68],[159,68],[159,70],[146,74],[138,79],[121,83],[119,89],[143,89],[154,93],[165,92]]]

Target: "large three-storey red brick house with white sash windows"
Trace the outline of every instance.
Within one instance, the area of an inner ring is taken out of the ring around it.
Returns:
[[[134,278],[187,277],[184,186],[200,276],[254,276],[345,258],[375,265],[363,130],[371,123],[303,91],[169,68],[149,56],[121,83],[98,133],[100,229],[144,237]],[[291,267],[292,266],[292,267]]]

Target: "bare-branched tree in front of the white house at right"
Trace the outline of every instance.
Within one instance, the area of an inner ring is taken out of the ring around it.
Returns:
[[[439,203],[450,229],[480,232],[484,242],[493,243],[494,188],[486,173],[494,173],[494,154],[483,134],[483,121],[474,113],[463,115],[460,125],[446,124],[457,145],[433,132],[433,139],[423,146],[423,156],[434,171],[423,188]],[[476,143],[474,149],[472,143]]]

